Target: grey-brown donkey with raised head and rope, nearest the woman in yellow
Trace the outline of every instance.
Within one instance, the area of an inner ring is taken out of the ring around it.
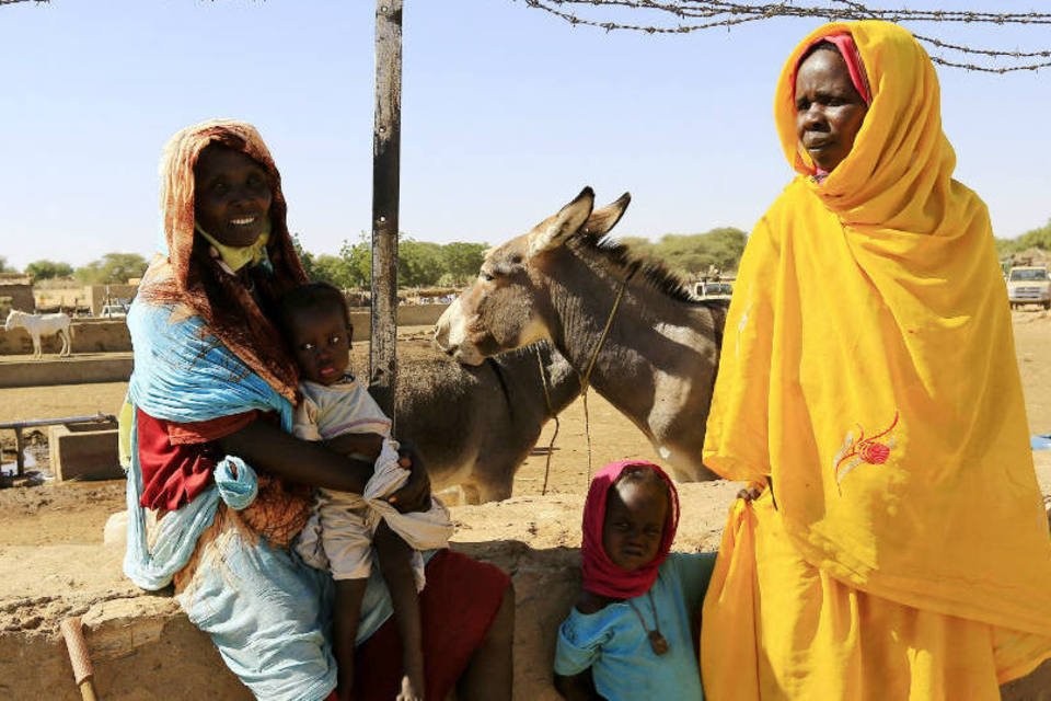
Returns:
[[[435,340],[466,365],[550,338],[587,384],[649,438],[682,481],[701,462],[725,300],[696,300],[662,265],[607,238],[631,202],[593,209],[586,187],[530,232],[486,254]]]

